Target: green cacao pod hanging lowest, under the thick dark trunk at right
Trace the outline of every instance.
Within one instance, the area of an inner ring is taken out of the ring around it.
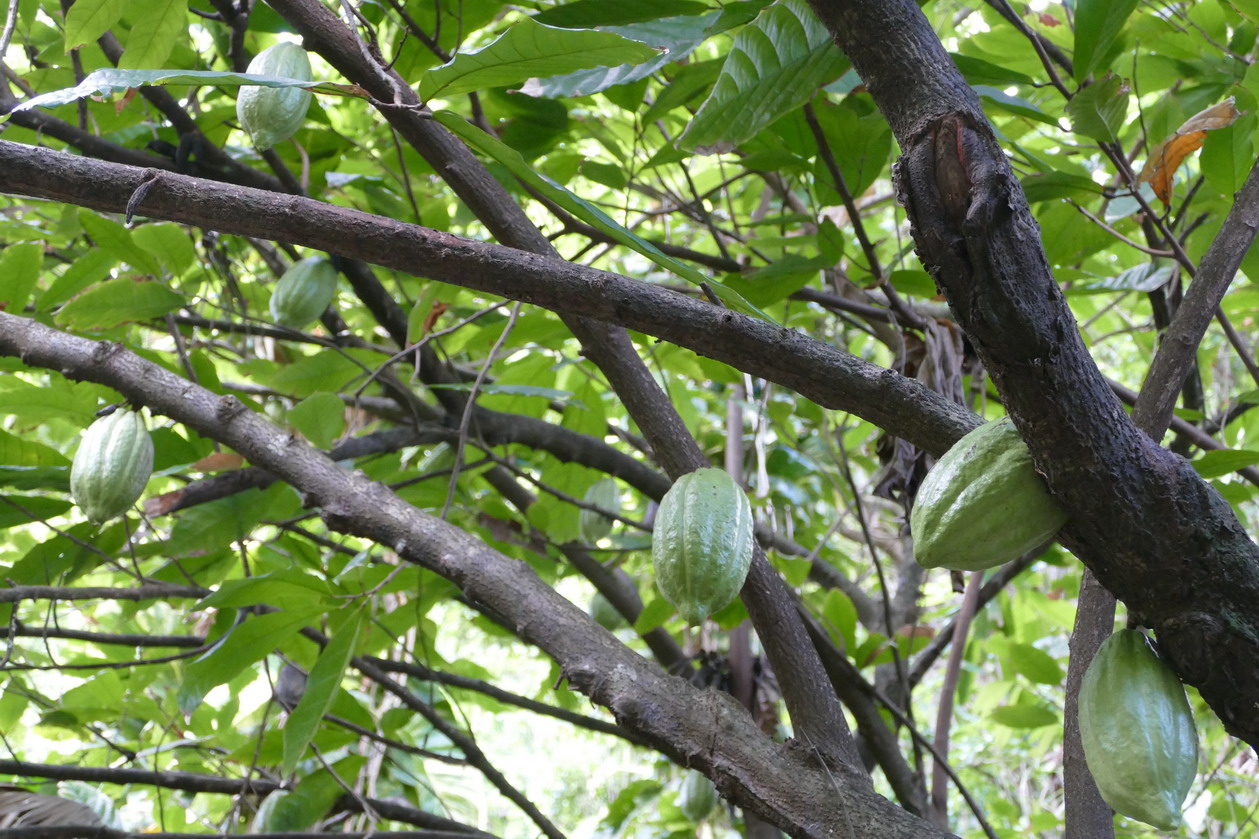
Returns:
[[[1080,683],[1080,741],[1102,799],[1122,815],[1175,830],[1197,773],[1185,688],[1144,632],[1119,630]]]

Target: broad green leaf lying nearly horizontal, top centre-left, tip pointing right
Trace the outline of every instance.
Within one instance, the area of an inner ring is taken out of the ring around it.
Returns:
[[[419,79],[419,98],[428,102],[520,83],[531,76],[562,76],[590,67],[637,64],[657,54],[646,44],[609,31],[556,29],[525,18],[492,44],[460,53],[424,73]]]

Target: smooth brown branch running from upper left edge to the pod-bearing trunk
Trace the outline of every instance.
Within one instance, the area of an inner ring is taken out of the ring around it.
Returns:
[[[0,190],[121,213],[152,170],[0,140]],[[978,418],[891,370],[801,333],[606,271],[293,195],[162,173],[140,213],[303,244],[621,324],[686,346],[813,402],[850,411],[940,455]]]

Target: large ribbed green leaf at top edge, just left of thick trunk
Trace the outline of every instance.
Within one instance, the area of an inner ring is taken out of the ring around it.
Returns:
[[[808,102],[847,67],[805,0],[779,0],[735,37],[721,76],[679,145],[700,154],[730,151]]]

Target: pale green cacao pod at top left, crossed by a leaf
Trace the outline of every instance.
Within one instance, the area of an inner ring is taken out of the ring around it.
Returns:
[[[301,82],[315,78],[306,50],[290,42],[281,42],[254,55],[246,72]],[[310,106],[311,92],[305,87],[242,84],[237,96],[237,120],[249,132],[254,147],[263,151],[297,134]]]

